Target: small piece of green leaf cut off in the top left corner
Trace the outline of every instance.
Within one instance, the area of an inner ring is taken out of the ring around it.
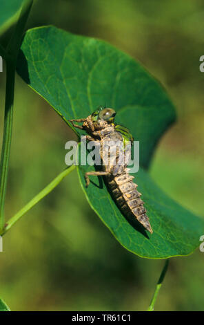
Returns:
[[[1,0],[0,35],[17,21],[23,0]]]

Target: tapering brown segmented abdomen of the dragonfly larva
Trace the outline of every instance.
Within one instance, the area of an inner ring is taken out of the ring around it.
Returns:
[[[136,189],[137,185],[133,183],[128,170],[125,169],[123,174],[117,176],[107,176],[107,185],[123,214],[133,215],[149,232],[153,232],[149,218],[147,217],[141,193]]]

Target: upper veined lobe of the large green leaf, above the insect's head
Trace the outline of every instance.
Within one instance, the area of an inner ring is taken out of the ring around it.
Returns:
[[[140,141],[144,167],[175,119],[174,106],[159,82],[104,41],[54,27],[28,30],[17,72],[65,121],[83,118],[101,104],[121,110],[121,123]]]

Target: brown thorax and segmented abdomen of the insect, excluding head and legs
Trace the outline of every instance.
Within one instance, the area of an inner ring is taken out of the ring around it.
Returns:
[[[116,161],[119,157],[119,150],[123,149],[123,137],[121,133],[114,130],[114,126],[106,127],[101,132],[101,160],[105,160],[105,154],[103,147],[105,147],[106,141],[120,141],[121,146],[116,150]],[[104,143],[104,145],[103,145]],[[112,146],[113,149],[114,145]],[[126,155],[128,156],[128,161],[131,156],[131,147],[126,149]],[[105,151],[106,153],[107,151]],[[115,151],[114,151],[115,152]],[[132,180],[134,176],[130,175],[128,172],[127,164],[122,166],[114,165],[114,157],[111,156],[110,151],[108,151],[108,165],[103,165],[103,171],[108,171],[108,175],[103,176],[105,179],[106,186],[110,189],[112,198],[118,205],[119,209],[125,216],[133,216],[139,223],[141,223],[149,232],[152,234],[152,228],[150,225],[149,218],[147,217],[143,201],[141,200],[141,193],[137,191],[137,186]],[[126,163],[128,163],[126,161]],[[106,160],[107,162],[107,160]],[[118,167],[118,168],[117,168]],[[121,168],[122,167],[122,168]],[[119,169],[120,172],[119,172]]]

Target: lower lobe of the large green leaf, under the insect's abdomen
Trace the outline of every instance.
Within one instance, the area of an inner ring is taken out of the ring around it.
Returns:
[[[139,185],[139,192],[150,217],[153,234],[143,230],[137,221],[126,220],[105,187],[102,178],[90,176],[88,189],[85,188],[85,171],[79,167],[79,178],[83,191],[92,209],[126,249],[140,257],[164,259],[190,254],[199,245],[203,221],[185,210],[155,185],[146,171],[140,168],[132,174]]]

